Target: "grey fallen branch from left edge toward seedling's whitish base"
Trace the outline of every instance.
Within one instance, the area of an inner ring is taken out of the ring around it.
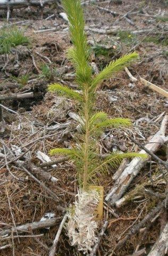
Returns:
[[[40,228],[47,228],[47,227],[52,227],[54,226],[58,221],[60,221],[60,219],[62,219],[61,217],[57,217],[57,218],[52,218],[52,219],[48,219],[48,220],[44,220],[44,221],[35,221],[32,223],[27,223],[18,227],[12,227],[9,229],[5,229],[0,231],[0,236],[5,236],[5,235],[9,235],[12,232],[16,233],[16,232],[27,232],[29,230],[34,230],[34,229],[40,229]]]

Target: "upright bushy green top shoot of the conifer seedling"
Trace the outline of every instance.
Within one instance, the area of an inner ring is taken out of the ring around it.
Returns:
[[[91,79],[84,15],[80,1],[63,0],[62,3],[69,19],[71,41],[73,43],[73,47],[68,51],[68,57],[75,67],[77,81],[81,85],[90,82]]]

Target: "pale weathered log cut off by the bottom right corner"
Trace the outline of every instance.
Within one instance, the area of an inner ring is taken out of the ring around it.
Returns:
[[[166,223],[158,240],[154,244],[152,250],[149,252],[148,256],[164,256],[167,254],[168,249],[168,223]]]

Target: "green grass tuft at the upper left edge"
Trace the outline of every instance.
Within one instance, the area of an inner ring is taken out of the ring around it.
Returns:
[[[16,27],[0,29],[0,54],[9,53],[12,47],[28,44],[29,38]]]

